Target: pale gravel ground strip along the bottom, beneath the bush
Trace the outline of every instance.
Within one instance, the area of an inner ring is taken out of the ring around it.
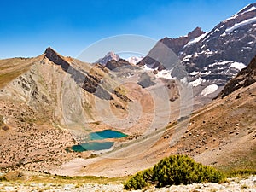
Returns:
[[[0,183],[0,191],[19,191],[19,192],[41,192],[41,191],[49,191],[49,192],[62,192],[62,191],[74,191],[74,192],[118,192],[124,191],[123,185],[121,184],[62,184],[57,185],[54,183],[19,183],[19,185],[15,185],[17,183],[8,183],[3,182]],[[133,190],[135,191],[135,190]],[[222,192],[256,192],[256,175],[250,176],[246,178],[230,178],[227,183],[202,183],[202,184],[189,184],[189,185],[172,185],[170,187],[155,189],[154,187],[146,189],[146,190],[136,190],[136,191],[189,191],[189,192],[213,192],[213,191],[222,191]]]

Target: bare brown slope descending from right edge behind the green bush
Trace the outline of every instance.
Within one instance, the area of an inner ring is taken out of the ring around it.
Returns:
[[[252,73],[250,68],[254,62],[255,58],[247,67],[247,72]],[[255,70],[254,67],[253,71]],[[244,72],[244,77],[247,77],[248,74]],[[241,73],[235,79],[240,75]],[[229,84],[224,90],[230,89]],[[234,169],[255,169],[255,114],[256,84],[244,84],[241,88],[230,91],[224,98],[218,97],[206,107],[192,113],[184,134],[186,119],[173,121],[160,139],[154,141],[156,143],[143,153],[139,153],[143,145],[137,145],[132,150],[124,148],[123,153],[127,154],[127,158],[77,159],[53,172],[64,175],[124,176],[153,166],[170,154],[189,154],[203,164],[217,166],[227,172]],[[172,136],[177,132],[181,132],[183,137],[173,143],[176,138]],[[147,139],[150,141],[150,138]]]

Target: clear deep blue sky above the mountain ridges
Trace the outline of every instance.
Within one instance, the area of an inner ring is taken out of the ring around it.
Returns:
[[[109,36],[177,38],[196,26],[210,31],[250,0],[4,0],[0,58],[36,56],[48,46],[76,57]]]

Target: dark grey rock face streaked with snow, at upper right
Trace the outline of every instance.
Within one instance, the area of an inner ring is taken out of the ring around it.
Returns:
[[[253,4],[248,8],[251,6]],[[183,47],[178,55],[188,72],[201,71],[216,61],[237,61],[247,65],[256,52],[256,27],[253,26],[256,23],[255,17],[256,10],[243,9],[220,22],[200,41]],[[191,56],[183,60],[188,55]]]

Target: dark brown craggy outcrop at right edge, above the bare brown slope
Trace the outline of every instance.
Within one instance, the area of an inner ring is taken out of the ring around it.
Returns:
[[[231,79],[228,84],[225,85],[224,90],[222,90],[218,97],[224,97],[230,95],[230,93],[238,90],[241,87],[247,87],[256,82],[256,55],[249,65],[242,69],[240,73],[237,74],[236,78]]]

